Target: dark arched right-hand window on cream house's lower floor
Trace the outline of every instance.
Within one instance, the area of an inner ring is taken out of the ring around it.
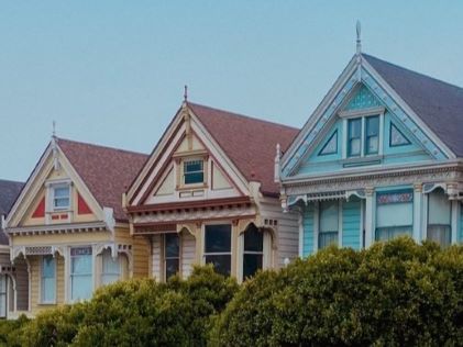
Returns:
[[[246,279],[263,268],[264,232],[251,224],[244,232],[243,279]]]

